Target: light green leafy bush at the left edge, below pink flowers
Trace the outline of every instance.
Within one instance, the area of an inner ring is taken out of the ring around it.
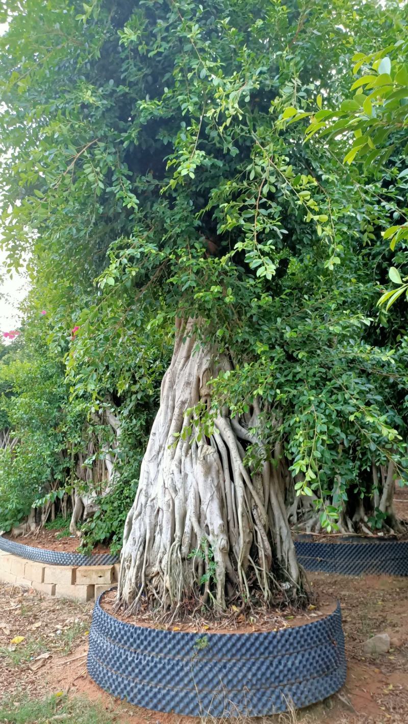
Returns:
[[[15,346],[14,346],[15,345]],[[0,450],[0,528],[8,531],[29,513],[50,480],[64,479],[62,425],[65,395],[61,363],[54,361],[35,330],[0,363],[0,384],[7,387],[0,408],[18,444]]]

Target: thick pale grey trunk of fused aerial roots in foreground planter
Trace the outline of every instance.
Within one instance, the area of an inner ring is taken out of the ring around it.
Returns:
[[[222,609],[233,597],[269,602],[301,589],[276,470],[264,450],[257,473],[243,463],[248,445],[262,450],[249,432],[259,411],[245,421],[220,410],[207,434],[193,424],[195,405],[211,409],[209,380],[229,365],[215,363],[192,327],[191,320],[178,324],[124,528],[118,605],[130,610],[144,595],[163,609],[188,600]]]

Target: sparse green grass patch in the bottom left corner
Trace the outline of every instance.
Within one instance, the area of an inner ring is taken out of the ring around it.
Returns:
[[[56,717],[56,718],[54,718]],[[47,699],[25,699],[16,706],[14,701],[0,704],[1,724],[51,724],[52,720],[64,724],[113,724],[114,719],[98,704],[89,699],[53,694]]]

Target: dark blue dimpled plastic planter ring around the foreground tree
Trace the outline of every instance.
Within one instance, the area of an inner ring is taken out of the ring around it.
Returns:
[[[103,610],[102,596],[88,673],[130,704],[190,716],[263,716],[326,699],[346,678],[339,604],[304,626],[203,634],[125,623]]]

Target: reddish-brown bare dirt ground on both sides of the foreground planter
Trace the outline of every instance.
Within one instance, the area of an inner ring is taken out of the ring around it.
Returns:
[[[331,597],[341,601],[347,683],[325,702],[267,717],[263,724],[408,724],[408,578],[311,574],[310,582],[322,606]],[[197,724],[119,702],[90,680],[86,653],[92,607],[0,584],[0,701],[64,692],[100,702],[118,724]],[[384,631],[391,650],[366,657],[362,643]],[[24,639],[12,644],[15,636]]]

